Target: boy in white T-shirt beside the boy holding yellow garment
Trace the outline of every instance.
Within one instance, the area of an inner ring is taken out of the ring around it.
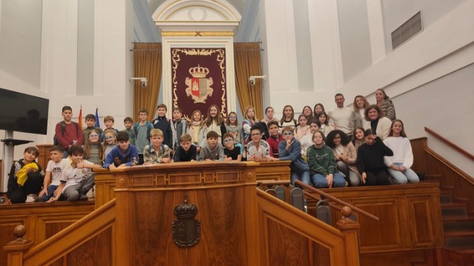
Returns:
[[[59,184],[61,184],[62,172],[64,168],[71,164],[68,158],[62,158],[63,153],[64,149],[59,145],[50,148],[51,160],[48,161],[48,166],[46,166],[43,190],[38,194],[39,201],[41,202],[59,200],[62,194],[62,189],[58,189]],[[50,200],[51,198],[53,200]]]

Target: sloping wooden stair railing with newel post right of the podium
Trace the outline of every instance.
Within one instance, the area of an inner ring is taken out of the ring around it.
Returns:
[[[257,204],[261,265],[359,265],[359,223],[333,228],[259,189]]]

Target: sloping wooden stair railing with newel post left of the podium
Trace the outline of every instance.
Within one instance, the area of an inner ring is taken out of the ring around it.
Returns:
[[[115,216],[115,200],[112,200],[29,251],[34,244],[31,240],[10,242],[4,247],[7,265],[78,265],[85,257],[87,260],[95,257],[97,265],[115,265]]]

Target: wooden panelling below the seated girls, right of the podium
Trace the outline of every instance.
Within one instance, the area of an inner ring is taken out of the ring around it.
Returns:
[[[373,221],[357,215],[361,225],[361,253],[435,249],[444,246],[437,183],[323,191],[379,217],[380,221]],[[315,200],[308,198],[308,213],[315,213],[315,203]],[[341,214],[336,209],[331,209],[331,212],[335,223]]]

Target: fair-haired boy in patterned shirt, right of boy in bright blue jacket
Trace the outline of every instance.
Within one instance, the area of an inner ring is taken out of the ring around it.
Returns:
[[[163,132],[157,128],[150,131],[150,145],[143,150],[143,165],[171,163],[169,147],[163,144]]]

